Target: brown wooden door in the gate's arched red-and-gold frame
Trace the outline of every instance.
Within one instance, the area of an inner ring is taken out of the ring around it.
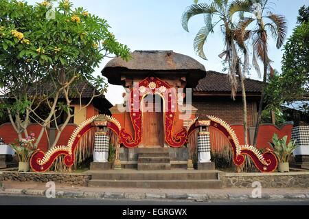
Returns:
[[[147,100],[150,100],[149,97]],[[156,104],[155,95],[153,95],[153,102],[145,101],[145,99],[143,102],[144,147],[163,147],[163,103],[161,101]]]

